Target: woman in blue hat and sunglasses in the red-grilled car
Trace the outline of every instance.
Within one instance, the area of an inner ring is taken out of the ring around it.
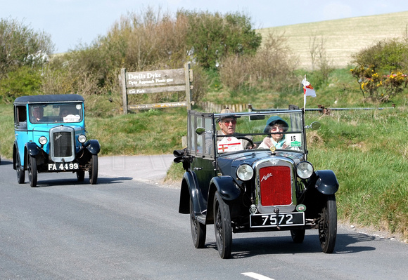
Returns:
[[[260,143],[260,149],[269,149],[272,145],[276,149],[286,149],[289,146],[286,145],[285,135],[284,134],[275,134],[277,132],[286,132],[288,131],[288,123],[283,121],[279,116],[271,116],[267,125],[264,128],[264,133],[274,133],[264,138],[262,143]]]

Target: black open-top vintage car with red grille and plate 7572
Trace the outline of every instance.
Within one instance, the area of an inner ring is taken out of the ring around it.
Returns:
[[[179,213],[190,215],[196,248],[205,247],[206,226],[214,224],[222,258],[231,256],[233,232],[287,230],[300,243],[305,229],[317,229],[322,251],[333,252],[338,181],[307,161],[306,130],[319,123],[306,126],[304,116],[293,106],[189,111],[188,145],[174,151],[174,161],[185,169]]]

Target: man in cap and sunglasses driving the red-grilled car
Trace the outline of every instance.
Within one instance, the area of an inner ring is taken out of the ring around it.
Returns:
[[[246,136],[242,135],[240,133],[235,133],[236,129],[236,115],[234,110],[229,109],[228,107],[225,109],[222,109],[220,114],[231,114],[230,116],[222,116],[222,118],[217,120],[217,123],[219,125],[220,131],[217,131],[217,135],[231,135],[234,138],[228,138],[228,137],[218,137],[217,138],[217,145],[218,145],[218,150],[219,152],[227,152],[227,149],[232,148],[232,146],[237,146],[234,147],[234,150],[242,150],[242,149],[252,149],[253,146],[251,145],[250,141],[245,140],[245,139],[238,139],[239,136],[244,136],[246,138],[249,138],[252,140],[252,136]],[[237,141],[238,140],[238,141]]]

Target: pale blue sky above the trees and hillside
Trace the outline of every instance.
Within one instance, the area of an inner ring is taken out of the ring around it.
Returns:
[[[1,0],[1,20],[18,20],[35,32],[51,35],[54,53],[87,46],[104,36],[122,15],[147,7],[175,13],[243,13],[255,29],[323,20],[408,11],[407,0]]]

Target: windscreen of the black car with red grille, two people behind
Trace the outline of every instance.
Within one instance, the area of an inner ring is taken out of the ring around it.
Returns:
[[[302,113],[248,114],[220,116],[217,119],[217,152],[237,152],[245,149],[305,151]]]

